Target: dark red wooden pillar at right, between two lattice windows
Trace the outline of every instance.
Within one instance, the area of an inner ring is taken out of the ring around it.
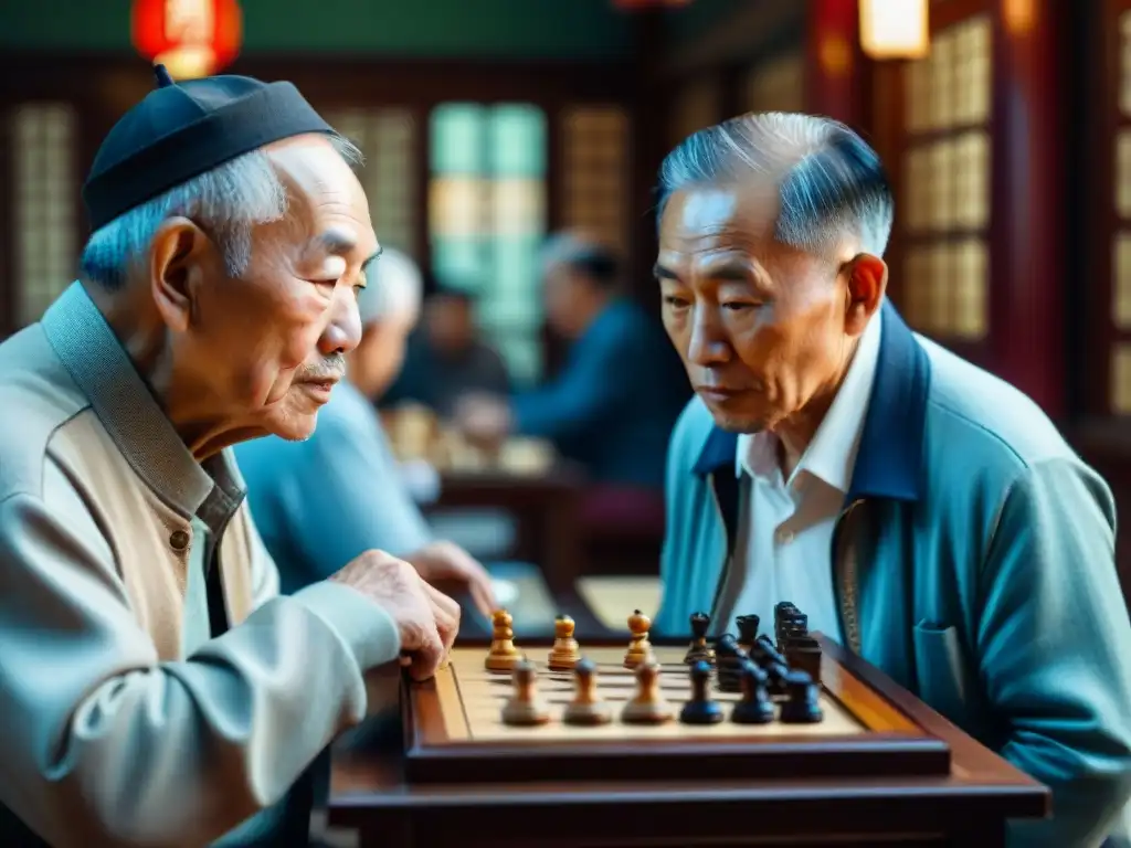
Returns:
[[[998,373],[1065,414],[1064,204],[1056,0],[995,0],[991,345]],[[1085,280],[1076,280],[1086,285]],[[1068,285],[1073,285],[1069,282]]]

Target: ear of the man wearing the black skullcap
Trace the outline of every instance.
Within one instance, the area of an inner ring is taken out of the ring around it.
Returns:
[[[157,230],[149,251],[149,287],[170,329],[183,332],[192,323],[197,293],[216,254],[213,240],[188,218],[170,218]]]

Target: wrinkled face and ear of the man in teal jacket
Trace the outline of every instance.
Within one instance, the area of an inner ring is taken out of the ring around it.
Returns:
[[[661,220],[664,326],[731,432],[774,430],[835,386],[882,295],[882,261],[783,246],[776,217],[775,190],[705,187],[675,193]]]

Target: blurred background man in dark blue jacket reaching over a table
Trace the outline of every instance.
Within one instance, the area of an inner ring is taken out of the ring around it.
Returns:
[[[563,233],[542,257],[546,321],[570,341],[552,382],[508,399],[461,399],[468,438],[551,440],[598,487],[624,503],[654,500],[664,485],[672,427],[688,397],[687,378],[663,329],[621,292],[616,257],[595,240]]]

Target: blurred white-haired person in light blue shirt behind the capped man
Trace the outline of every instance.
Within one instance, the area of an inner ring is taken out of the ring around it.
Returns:
[[[404,253],[386,249],[357,296],[362,335],[346,380],[303,442],[267,438],[235,449],[259,533],[283,592],[323,579],[337,557],[377,547],[409,562],[433,586],[468,597],[490,615],[497,600],[486,570],[461,547],[433,538],[373,399],[396,378],[421,311],[422,277]],[[470,617],[470,616],[468,616]]]

